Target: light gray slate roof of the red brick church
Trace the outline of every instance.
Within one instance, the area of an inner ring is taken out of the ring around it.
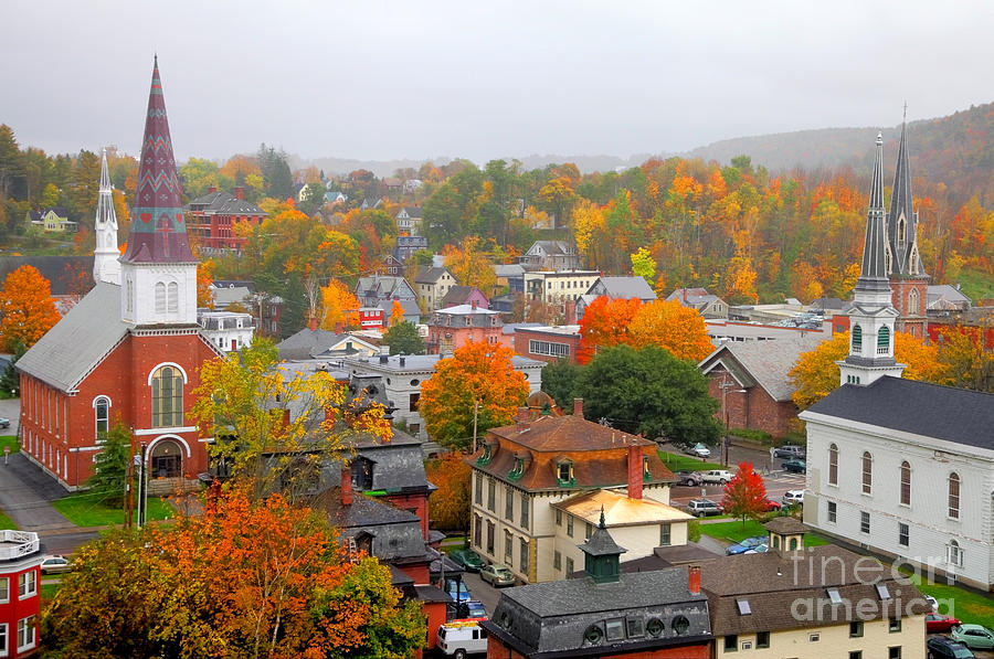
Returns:
[[[128,333],[120,286],[101,281],[45,333],[17,368],[59,391],[72,391]]]

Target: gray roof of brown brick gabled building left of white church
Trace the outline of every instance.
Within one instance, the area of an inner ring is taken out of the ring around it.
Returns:
[[[719,360],[733,360],[729,371],[736,378],[751,380],[759,384],[778,402],[791,400],[796,387],[791,384],[787,373],[794,368],[802,353],[814,350],[823,341],[821,336],[790,337],[775,341],[730,342],[705,358],[700,369],[705,373],[716,366]],[[736,372],[736,371],[739,372]],[[743,384],[749,384],[743,382]]]

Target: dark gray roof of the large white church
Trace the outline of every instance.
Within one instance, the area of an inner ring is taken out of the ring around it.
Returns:
[[[844,384],[804,412],[994,450],[994,394],[880,378]]]

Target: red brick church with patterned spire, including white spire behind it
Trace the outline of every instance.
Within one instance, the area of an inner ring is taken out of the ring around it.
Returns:
[[[179,485],[207,471],[190,418],[200,365],[219,353],[197,323],[197,258],[156,63],[128,246],[117,257],[106,160],[95,232],[96,286],[18,362],[21,446],[60,482],[86,482],[101,433],[118,419],[147,445],[149,475]],[[113,248],[110,247],[113,242]]]

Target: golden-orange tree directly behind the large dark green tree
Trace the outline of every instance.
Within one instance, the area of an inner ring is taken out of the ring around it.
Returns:
[[[676,300],[656,300],[638,307],[628,323],[628,340],[636,349],[658,346],[677,359],[695,362],[715,350],[704,317]]]

